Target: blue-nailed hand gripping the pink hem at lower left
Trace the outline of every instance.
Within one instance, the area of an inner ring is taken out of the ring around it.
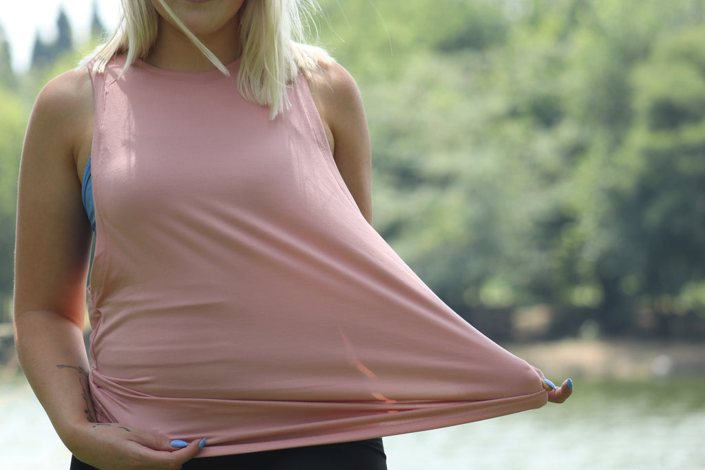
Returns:
[[[121,423],[85,423],[72,433],[67,447],[77,459],[99,470],[180,469],[198,454],[204,439],[172,447],[163,435]]]

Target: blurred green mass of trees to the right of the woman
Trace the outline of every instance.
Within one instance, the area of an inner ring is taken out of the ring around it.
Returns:
[[[705,316],[705,2],[324,4],[376,228],[451,307],[497,336],[533,304],[554,335]]]

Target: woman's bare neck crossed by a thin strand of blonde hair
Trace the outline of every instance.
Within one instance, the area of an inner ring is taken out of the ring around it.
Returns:
[[[240,56],[239,20],[233,18],[233,25],[223,27],[207,37],[198,39],[219,60],[227,65]],[[152,66],[177,72],[208,72],[216,66],[193,44],[178,27],[159,18],[159,32],[154,46],[145,57]]]

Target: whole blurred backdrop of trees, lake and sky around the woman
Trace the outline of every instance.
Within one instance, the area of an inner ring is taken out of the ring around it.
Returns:
[[[13,347],[27,118],[117,3],[0,11],[7,468],[68,467]],[[390,470],[705,468],[705,0],[321,5],[366,104],[376,229],[467,321],[575,380],[563,406],[388,438]]]

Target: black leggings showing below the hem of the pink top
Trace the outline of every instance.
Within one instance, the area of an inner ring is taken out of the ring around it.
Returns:
[[[381,438],[352,443],[312,445],[251,454],[202,457],[182,470],[386,470]],[[71,470],[95,470],[73,457]]]

